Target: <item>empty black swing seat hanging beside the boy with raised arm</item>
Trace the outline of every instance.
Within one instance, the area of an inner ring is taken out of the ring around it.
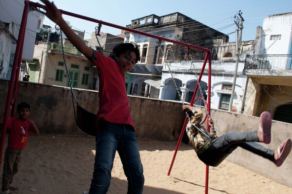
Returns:
[[[95,117],[95,114],[77,105],[76,124],[79,129],[91,136],[96,136],[97,133],[94,123]]]

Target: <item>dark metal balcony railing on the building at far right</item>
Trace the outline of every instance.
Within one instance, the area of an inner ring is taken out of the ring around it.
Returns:
[[[292,55],[247,55],[244,69],[292,70]]]

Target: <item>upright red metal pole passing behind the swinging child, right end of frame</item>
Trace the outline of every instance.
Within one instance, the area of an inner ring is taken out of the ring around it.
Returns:
[[[209,116],[211,116],[211,52],[209,53],[209,68],[208,68],[208,112]],[[207,124],[207,130],[210,132],[210,126]],[[206,179],[205,179],[205,194],[208,194],[209,189],[209,166],[206,165]]]

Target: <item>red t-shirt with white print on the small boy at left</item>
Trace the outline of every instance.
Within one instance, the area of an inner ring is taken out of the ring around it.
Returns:
[[[10,117],[7,121],[7,128],[10,129],[8,137],[8,148],[23,149],[28,140],[31,130],[28,121],[31,119],[21,120],[17,117]]]

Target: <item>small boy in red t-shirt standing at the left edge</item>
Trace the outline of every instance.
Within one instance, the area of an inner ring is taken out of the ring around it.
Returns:
[[[28,140],[30,132],[39,135],[39,129],[29,116],[30,106],[26,102],[17,105],[19,117],[10,117],[7,120],[7,128],[10,129],[8,145],[4,157],[3,175],[2,175],[2,193],[10,194],[10,190],[18,190],[12,187],[13,176],[18,172],[20,155],[22,149]],[[0,123],[3,123],[3,116],[0,117]]]

